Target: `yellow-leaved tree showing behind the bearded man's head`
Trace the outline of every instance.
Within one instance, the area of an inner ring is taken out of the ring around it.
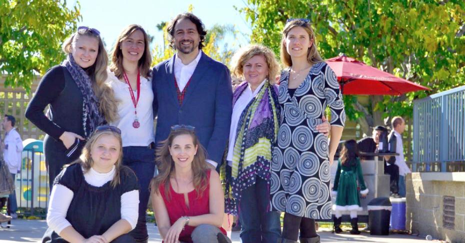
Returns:
[[[188,11],[192,12],[193,6],[189,5]],[[166,31],[168,22],[161,21],[156,25],[158,30],[163,31],[163,45],[156,44],[152,51],[153,60],[152,63],[156,64],[160,61],[170,58],[175,50],[169,47],[168,42],[168,33]],[[210,56],[211,58],[218,60],[225,65],[228,65],[230,59],[233,55],[233,49],[227,44],[224,43],[222,48],[219,46],[219,42],[227,35],[232,34],[235,37],[235,30],[233,25],[221,25],[215,24],[210,29],[208,29],[207,34],[204,40],[204,46],[202,51]]]

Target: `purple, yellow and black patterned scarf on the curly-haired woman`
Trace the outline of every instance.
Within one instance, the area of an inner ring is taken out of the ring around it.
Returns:
[[[233,105],[247,86],[244,82],[236,88]],[[228,213],[237,215],[235,206],[241,191],[254,185],[256,176],[269,183],[272,151],[279,129],[277,92],[276,86],[269,85],[266,80],[240,115],[232,158],[232,185],[229,185],[231,188],[226,186],[225,190]]]

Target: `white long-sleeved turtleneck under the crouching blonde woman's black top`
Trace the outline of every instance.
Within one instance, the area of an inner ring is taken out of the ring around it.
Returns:
[[[66,169],[65,169],[66,170]],[[113,180],[115,167],[108,173],[98,173],[90,168],[87,173],[84,173],[84,180],[94,186],[101,187],[105,183]],[[47,225],[58,235],[64,228],[71,226],[66,220],[69,205],[71,204],[74,193],[69,188],[55,184],[51,189],[50,203],[47,211]],[[121,219],[126,220],[131,226],[131,230],[135,228],[139,217],[139,191],[133,190],[121,195]]]

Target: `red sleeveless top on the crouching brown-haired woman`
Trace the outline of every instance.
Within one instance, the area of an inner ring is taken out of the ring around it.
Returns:
[[[207,171],[206,177],[208,182],[210,181],[210,170]],[[185,205],[184,194],[179,194],[174,192],[171,185],[169,186],[170,192],[170,200],[166,199],[164,194],[164,184],[160,184],[159,192],[161,197],[163,198],[164,205],[166,207],[166,211],[168,212],[169,216],[169,223],[173,225],[179,218],[182,216],[198,216],[210,213],[210,203],[209,203],[209,192],[210,192],[210,185],[206,186],[206,189],[203,193],[197,197],[197,192],[195,189],[187,193],[187,198],[189,200],[189,207]],[[192,239],[190,235],[195,227],[192,226],[185,226],[184,230],[179,234],[179,241],[181,242],[188,242],[191,243]],[[226,231],[223,228],[219,228],[219,230],[226,235]]]

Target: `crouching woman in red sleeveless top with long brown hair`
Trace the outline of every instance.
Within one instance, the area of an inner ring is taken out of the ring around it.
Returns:
[[[157,150],[151,201],[165,243],[230,243],[221,228],[224,196],[194,127],[175,125]]]

